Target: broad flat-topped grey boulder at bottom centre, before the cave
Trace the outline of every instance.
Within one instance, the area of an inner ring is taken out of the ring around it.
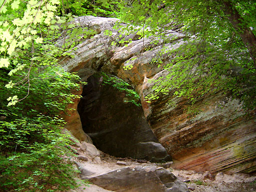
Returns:
[[[92,175],[81,173],[81,178],[116,192],[188,192],[186,184],[157,166],[126,166]]]

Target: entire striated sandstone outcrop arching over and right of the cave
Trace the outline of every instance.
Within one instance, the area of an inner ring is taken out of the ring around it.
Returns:
[[[144,95],[152,87],[148,79],[167,73],[150,63],[161,49],[162,40],[150,44],[150,40],[136,40],[127,46],[110,46],[118,38],[117,31],[112,30],[115,19],[88,16],[83,19],[84,26],[97,28],[97,35],[77,45],[74,58],[65,57],[62,66],[68,71],[77,71],[82,78],[87,78],[94,71],[102,70],[114,74],[129,82],[139,93],[144,115],[159,142],[167,149],[174,160],[176,168],[191,170],[255,172],[256,170],[256,123],[255,113],[251,118],[243,116],[239,100],[231,100],[223,93],[207,95],[204,102],[200,100],[195,106],[200,109],[196,115],[184,113],[188,102],[184,98],[162,96],[151,103],[144,101]],[[112,36],[105,36],[104,30],[112,30]],[[171,40],[165,43],[168,49],[184,43],[183,34],[169,31],[166,36]],[[165,39],[166,40],[166,39]],[[141,46],[141,45],[144,45]],[[152,47],[146,50],[147,46]],[[163,63],[168,62],[168,55],[162,55]],[[132,64],[133,68],[122,67]],[[174,105],[168,105],[171,100]]]

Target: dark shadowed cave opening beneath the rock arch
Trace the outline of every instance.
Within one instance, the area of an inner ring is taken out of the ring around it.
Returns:
[[[127,102],[125,91],[104,83],[101,73],[87,78],[77,111],[83,131],[101,151],[118,157],[170,161],[158,142],[141,106]]]

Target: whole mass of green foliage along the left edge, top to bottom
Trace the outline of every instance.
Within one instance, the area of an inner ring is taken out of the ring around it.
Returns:
[[[76,74],[58,66],[77,40],[95,34],[59,0],[0,1],[0,190],[65,191],[78,185],[60,112],[77,95]],[[62,37],[62,41],[56,41]]]

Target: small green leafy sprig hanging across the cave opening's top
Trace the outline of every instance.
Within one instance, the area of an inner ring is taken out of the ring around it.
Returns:
[[[117,90],[125,92],[125,96],[128,98],[125,102],[131,102],[136,106],[141,106],[138,93],[127,82],[117,76],[109,75],[104,72],[101,72],[100,75],[103,78],[102,84],[110,84],[117,88]]]

